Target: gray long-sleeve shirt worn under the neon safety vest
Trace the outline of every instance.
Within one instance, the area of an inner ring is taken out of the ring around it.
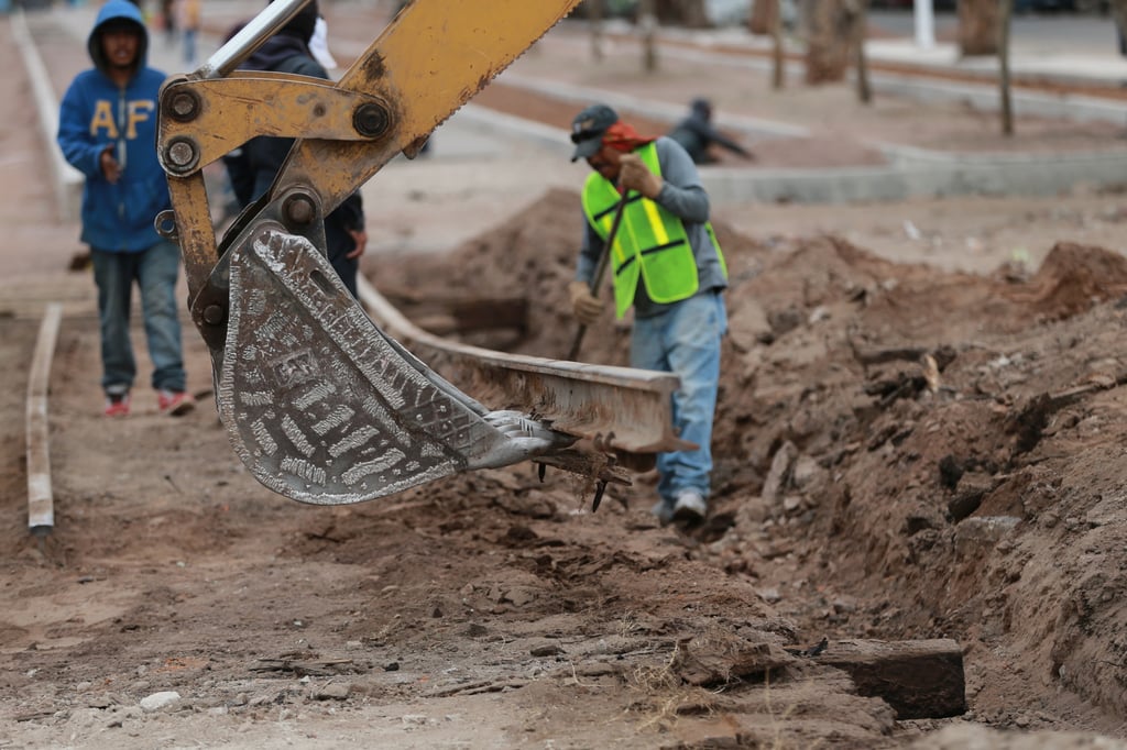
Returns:
[[[696,259],[696,276],[700,279],[696,294],[713,294],[726,288],[728,282],[724,276],[720,258],[712,248],[712,240],[704,229],[704,224],[709,220],[708,193],[701,185],[696,166],[681,145],[665,136],[657,139],[655,145],[664,180],[662,191],[658,193],[655,203],[681,218],[685,225],[685,234],[689,236],[689,244]],[[583,216],[583,245],[579,250],[575,278],[589,284],[595,275],[595,268],[605,243],[591,222],[587,221],[586,215]],[[607,268],[610,269],[610,266]],[[645,283],[638,284],[638,291],[635,293],[635,315],[637,318],[656,315],[669,306],[650,300],[646,293]]]

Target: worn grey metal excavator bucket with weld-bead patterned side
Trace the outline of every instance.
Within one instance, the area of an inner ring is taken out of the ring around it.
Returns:
[[[529,457],[512,453],[490,412],[385,337],[304,238],[260,225],[232,250],[229,274],[220,416],[275,492],[360,502]],[[542,435],[544,449],[575,441]]]

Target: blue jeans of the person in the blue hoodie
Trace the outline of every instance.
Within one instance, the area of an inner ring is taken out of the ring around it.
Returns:
[[[176,278],[180,249],[161,241],[141,252],[104,252],[90,248],[94,280],[98,285],[101,327],[101,387],[119,393],[133,386],[136,360],[130,340],[130,303],[133,282],[141,289],[141,314],[152,359],[152,386],[183,391],[186,384],[180,345]]]

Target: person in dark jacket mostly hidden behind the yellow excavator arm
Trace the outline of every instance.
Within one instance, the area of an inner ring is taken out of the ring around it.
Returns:
[[[331,80],[309,48],[317,17],[314,0],[267,39],[240,70],[276,71]],[[240,208],[246,208],[269,189],[291,146],[293,139],[259,135],[223,158]],[[360,257],[367,247],[364,207],[358,191],[325,217],[325,239],[329,262],[352,295],[357,296]]]

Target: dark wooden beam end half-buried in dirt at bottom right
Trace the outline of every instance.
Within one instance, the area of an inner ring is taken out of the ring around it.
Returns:
[[[849,672],[859,695],[884,698],[897,718],[967,711],[962,650],[950,639],[835,641],[815,661]]]

